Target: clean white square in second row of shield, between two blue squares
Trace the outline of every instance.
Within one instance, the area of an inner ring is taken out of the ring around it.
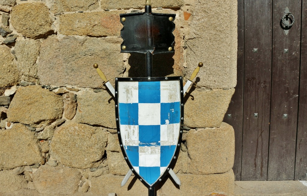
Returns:
[[[138,124],[139,125],[160,125],[160,103],[139,103]]]

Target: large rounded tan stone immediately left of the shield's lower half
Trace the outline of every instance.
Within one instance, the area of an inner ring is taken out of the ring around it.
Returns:
[[[106,146],[107,133],[103,129],[68,122],[56,129],[50,154],[66,166],[86,169],[100,165]]]

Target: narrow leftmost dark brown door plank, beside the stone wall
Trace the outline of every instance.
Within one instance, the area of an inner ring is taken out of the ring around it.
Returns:
[[[242,155],[242,119],[243,119],[243,78],[244,78],[244,0],[238,0],[238,58],[237,58],[237,86],[231,98],[224,122],[235,130],[235,162],[233,172],[235,180],[241,180]]]

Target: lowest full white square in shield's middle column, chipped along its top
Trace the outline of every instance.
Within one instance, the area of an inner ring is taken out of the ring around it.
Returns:
[[[160,167],[160,146],[140,146],[139,167]]]

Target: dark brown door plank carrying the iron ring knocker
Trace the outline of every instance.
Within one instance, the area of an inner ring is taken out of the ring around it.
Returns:
[[[297,21],[286,35],[280,26],[288,7]],[[301,1],[273,5],[273,64],[268,180],[294,179],[300,70]],[[289,53],[284,53],[289,49]],[[283,115],[288,115],[284,117]]]

